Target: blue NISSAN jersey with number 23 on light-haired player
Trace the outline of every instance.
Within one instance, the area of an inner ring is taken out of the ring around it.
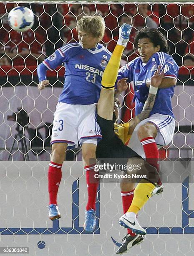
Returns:
[[[111,57],[102,44],[83,49],[80,43],[57,49],[43,64],[53,70],[64,63],[65,80],[59,102],[88,105],[98,102],[103,71]]]

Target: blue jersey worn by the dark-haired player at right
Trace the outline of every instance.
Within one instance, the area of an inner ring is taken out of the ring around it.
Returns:
[[[157,70],[158,65],[161,65],[161,69],[164,68],[164,77],[177,79],[178,65],[169,54],[161,51],[153,54],[146,64],[142,62],[141,57],[137,57],[118,71],[117,80],[127,77],[127,82],[134,82],[135,115],[140,114],[144,107],[149,94],[149,88],[146,83],[150,83],[150,78]],[[174,118],[171,106],[171,97],[173,95],[174,86],[158,89],[150,116],[159,113],[171,115]]]

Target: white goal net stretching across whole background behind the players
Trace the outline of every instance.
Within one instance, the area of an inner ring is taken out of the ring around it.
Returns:
[[[35,15],[35,23],[26,33],[17,33],[8,25],[8,13],[17,5],[30,8]],[[98,193],[98,210],[101,210],[97,214],[101,225],[97,225],[94,235],[82,234],[86,187],[80,147],[68,150],[63,164],[59,203],[66,202],[66,206],[60,207],[65,212],[64,218],[60,223],[46,219],[50,135],[65,68],[48,70],[50,85],[42,91],[37,89],[36,69],[56,49],[78,41],[77,21],[83,15],[95,14],[105,19],[106,33],[101,43],[110,51],[116,45],[119,26],[125,22],[133,26],[121,66],[138,56],[133,44],[137,31],[147,26],[164,33],[170,54],[180,69],[172,98],[174,138],[160,149],[160,158],[194,157],[194,4],[0,2],[1,247],[27,246],[32,256],[56,255],[56,251],[57,255],[108,256],[121,243],[124,233],[117,223],[122,213],[118,184],[101,184]],[[133,96],[133,84],[129,84],[119,96],[119,123],[134,116]],[[166,184],[165,188],[163,195],[150,200],[139,215],[149,235],[141,246],[132,249],[131,255],[193,255],[192,235],[189,235],[194,233],[194,215],[190,210],[194,198],[189,197],[193,186],[186,177],[182,184]]]

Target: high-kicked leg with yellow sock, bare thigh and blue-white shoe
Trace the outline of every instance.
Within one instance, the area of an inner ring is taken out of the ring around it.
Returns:
[[[97,112],[101,118],[113,120],[114,86],[117,79],[121,56],[128,42],[131,26],[124,23],[119,29],[119,39],[113,54],[103,72],[102,90],[98,100]]]

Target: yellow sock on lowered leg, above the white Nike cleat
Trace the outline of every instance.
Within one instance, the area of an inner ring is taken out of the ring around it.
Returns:
[[[127,212],[135,212],[137,214],[151,197],[154,187],[153,183],[139,183],[134,190],[134,198]]]

